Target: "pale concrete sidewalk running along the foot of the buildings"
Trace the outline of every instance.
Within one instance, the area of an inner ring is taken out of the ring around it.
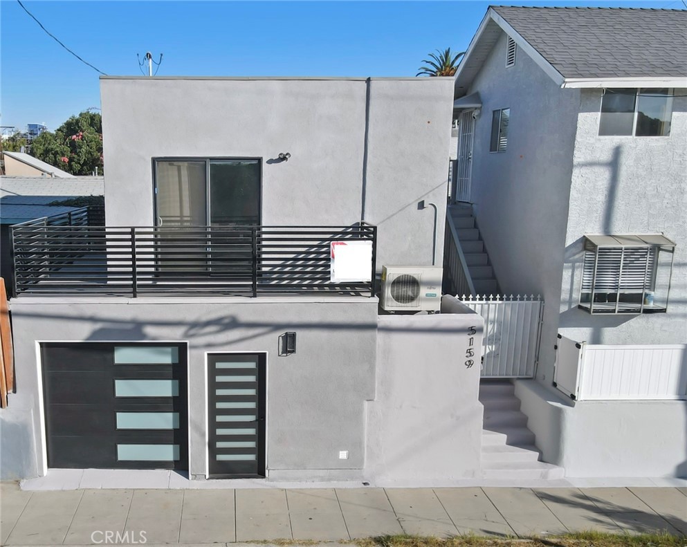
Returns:
[[[337,541],[386,534],[687,535],[686,488],[63,490],[2,483],[0,542],[21,545]],[[141,535],[143,533],[143,535]]]

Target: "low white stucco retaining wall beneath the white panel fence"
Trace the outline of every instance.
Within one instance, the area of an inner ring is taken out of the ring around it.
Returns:
[[[687,401],[576,401],[533,380],[515,395],[542,459],[567,477],[687,476]]]

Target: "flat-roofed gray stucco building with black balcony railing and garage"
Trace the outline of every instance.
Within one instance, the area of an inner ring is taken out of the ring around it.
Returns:
[[[15,228],[3,476],[479,476],[479,371],[455,355],[479,359],[482,319],[375,295],[382,266],[441,263],[453,80],[101,89],[106,226]]]

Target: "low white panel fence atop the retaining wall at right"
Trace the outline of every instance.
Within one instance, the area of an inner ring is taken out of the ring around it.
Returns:
[[[575,400],[687,399],[687,344],[605,346],[558,335],[553,381]]]

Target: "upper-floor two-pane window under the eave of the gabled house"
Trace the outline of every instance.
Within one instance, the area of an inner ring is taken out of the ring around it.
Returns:
[[[666,137],[671,118],[672,89],[605,89],[598,134]]]

